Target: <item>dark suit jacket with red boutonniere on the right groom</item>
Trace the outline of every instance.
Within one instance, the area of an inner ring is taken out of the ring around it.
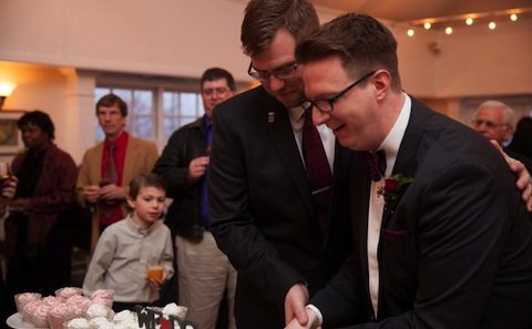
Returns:
[[[365,323],[349,328],[532,328],[532,225],[494,147],[412,100],[398,173],[413,182],[383,215],[378,318],[368,292],[370,182],[354,168],[357,250],[311,300],[325,327],[358,316]]]

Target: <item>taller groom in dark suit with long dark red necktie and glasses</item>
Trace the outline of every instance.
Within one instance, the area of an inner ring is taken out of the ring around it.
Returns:
[[[348,217],[334,214],[336,223],[320,226],[329,214],[318,212],[315,201],[324,191],[332,199],[331,212],[347,208],[341,189],[351,153],[336,145],[325,125],[317,127],[326,166],[339,178],[319,191],[309,187],[308,163],[301,155],[305,110],[295,47],[318,28],[316,11],[306,0],[250,1],[242,42],[250,56],[249,75],[262,85],[214,112],[211,230],[238,270],[239,329],[283,328],[287,291],[300,288],[301,295],[288,305],[303,309],[308,295],[337,273],[352,249]]]

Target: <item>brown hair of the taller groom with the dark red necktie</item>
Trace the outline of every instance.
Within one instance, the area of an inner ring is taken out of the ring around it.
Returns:
[[[250,0],[241,29],[244,53],[264,52],[280,29],[298,42],[319,29],[318,14],[307,0]]]

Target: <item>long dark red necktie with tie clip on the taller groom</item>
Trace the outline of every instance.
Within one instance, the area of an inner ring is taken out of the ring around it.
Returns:
[[[303,125],[303,158],[307,168],[308,184],[318,213],[321,230],[328,232],[328,210],[332,174],[318,130],[313,123],[311,112],[306,111]]]

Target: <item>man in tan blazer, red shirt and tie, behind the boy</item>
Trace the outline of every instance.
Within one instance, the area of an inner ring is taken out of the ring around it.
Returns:
[[[158,157],[154,143],[125,131],[127,104],[110,93],[96,102],[98,123],[105,140],[83,155],[78,176],[78,202],[92,214],[90,249],[100,234],[127,214],[126,186],[133,177],[149,173]]]

